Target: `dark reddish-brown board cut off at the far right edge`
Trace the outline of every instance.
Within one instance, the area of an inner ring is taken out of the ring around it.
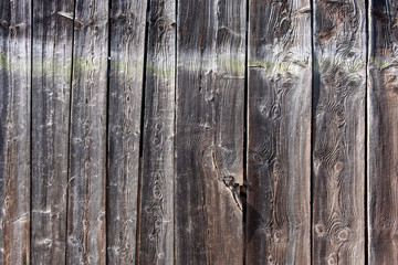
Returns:
[[[369,264],[398,264],[398,3],[369,1]]]

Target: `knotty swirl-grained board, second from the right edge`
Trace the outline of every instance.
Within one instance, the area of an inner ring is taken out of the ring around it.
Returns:
[[[314,0],[313,264],[365,263],[365,10]]]

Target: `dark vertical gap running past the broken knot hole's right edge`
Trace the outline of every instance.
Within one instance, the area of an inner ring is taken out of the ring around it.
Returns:
[[[243,187],[241,189],[241,202],[243,208],[243,214],[242,214],[242,222],[243,222],[243,262],[242,264],[245,264],[245,256],[247,256],[247,183],[248,183],[248,107],[249,107],[249,23],[250,23],[250,4],[249,0],[245,2],[245,40],[244,40],[244,109],[243,109]]]

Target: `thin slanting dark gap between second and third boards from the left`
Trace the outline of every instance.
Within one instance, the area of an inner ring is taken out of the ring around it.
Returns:
[[[72,138],[72,99],[73,99],[73,71],[74,71],[74,38],[75,38],[75,18],[76,18],[76,1],[73,1],[73,22],[72,22],[72,60],[71,60],[71,78],[70,78],[70,102],[69,102],[69,125],[67,125],[67,130],[69,130],[69,137],[67,137],[67,176],[66,176],[66,194],[65,194],[65,200],[66,200],[66,214],[65,214],[65,222],[66,222],[66,231],[65,231],[65,264],[67,264],[67,233],[69,233],[69,190],[70,190],[70,181],[71,181],[71,138]]]

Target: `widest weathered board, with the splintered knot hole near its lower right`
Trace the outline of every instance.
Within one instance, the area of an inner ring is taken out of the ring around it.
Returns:
[[[242,264],[244,0],[178,1],[176,264]]]

